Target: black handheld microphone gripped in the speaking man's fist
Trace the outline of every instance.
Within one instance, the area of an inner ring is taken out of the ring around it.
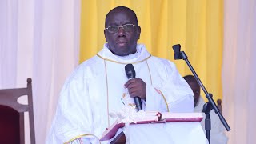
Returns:
[[[135,74],[135,70],[134,70],[134,66],[132,64],[127,64],[125,66],[125,70],[126,70],[126,76],[128,79],[130,78],[135,78],[136,74]],[[142,100],[139,97],[134,97],[134,103],[137,107],[137,110],[142,110]]]

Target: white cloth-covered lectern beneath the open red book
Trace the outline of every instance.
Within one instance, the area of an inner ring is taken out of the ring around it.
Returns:
[[[129,129],[131,144],[208,144],[199,122],[135,124],[130,125]],[[118,139],[112,138],[112,140],[117,141]]]

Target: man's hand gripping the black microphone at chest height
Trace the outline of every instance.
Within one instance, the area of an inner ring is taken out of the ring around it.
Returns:
[[[125,86],[129,91],[130,97],[146,99],[146,83],[141,78],[130,79]]]

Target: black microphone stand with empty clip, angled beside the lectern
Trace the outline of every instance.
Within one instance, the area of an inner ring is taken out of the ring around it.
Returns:
[[[191,72],[194,74],[194,78],[197,80],[199,86],[202,88],[203,92],[206,94],[206,98],[208,99],[208,102],[203,106],[202,112],[206,114],[206,120],[205,120],[205,130],[206,130],[206,138],[208,139],[208,142],[210,144],[210,110],[214,109],[215,113],[218,114],[218,118],[221,120],[223,126],[225,126],[227,131],[230,131],[230,126],[227,124],[225,118],[220,113],[220,110],[216,106],[216,103],[213,100],[213,95],[208,93],[205,86],[203,86],[200,78],[198,77],[198,74],[195,72],[194,68],[191,66],[189,60],[187,59],[187,56],[184,51],[180,51],[181,45],[174,45],[174,59],[183,59],[186,61],[187,66],[190,67]]]

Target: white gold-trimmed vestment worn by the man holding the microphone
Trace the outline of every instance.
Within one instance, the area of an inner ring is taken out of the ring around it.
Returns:
[[[143,110],[194,111],[193,92],[173,62],[151,56],[144,45],[138,44],[136,54],[136,58],[121,58],[105,44],[96,56],[82,62],[62,87],[46,143],[78,142],[79,138],[98,143],[115,121],[108,115],[110,110],[120,110],[128,102],[123,98],[130,97],[124,87],[128,63],[133,64],[136,78],[146,82]]]

